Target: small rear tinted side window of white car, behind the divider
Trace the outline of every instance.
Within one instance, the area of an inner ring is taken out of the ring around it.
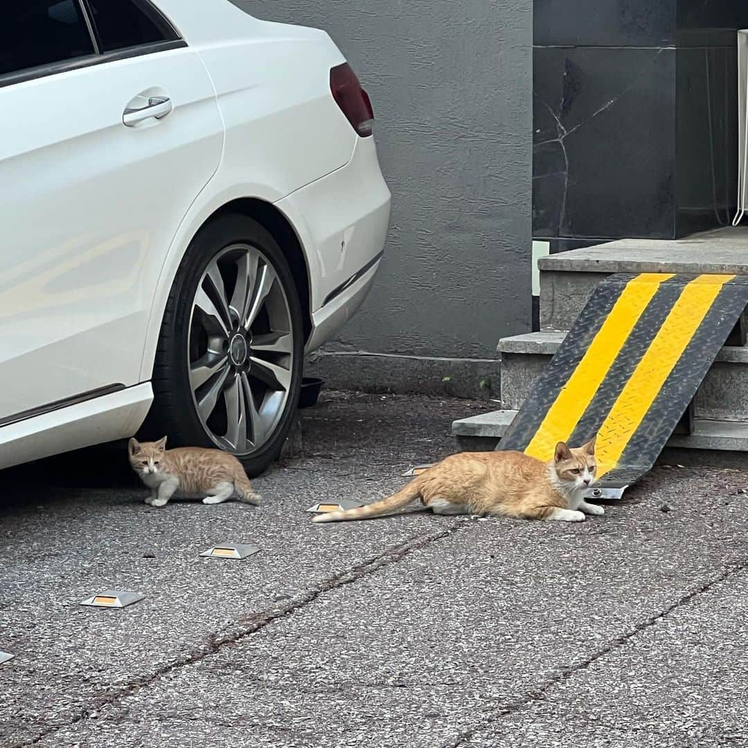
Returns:
[[[116,52],[143,44],[173,41],[174,29],[147,2],[86,0],[96,29],[99,49]]]

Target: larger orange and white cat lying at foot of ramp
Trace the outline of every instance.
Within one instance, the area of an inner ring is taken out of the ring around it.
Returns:
[[[420,497],[435,514],[581,522],[585,514],[605,513],[601,506],[584,500],[596,469],[595,439],[579,449],[569,449],[560,441],[550,462],[520,452],[459,453],[420,473],[387,499],[316,515],[313,521],[378,517]]]

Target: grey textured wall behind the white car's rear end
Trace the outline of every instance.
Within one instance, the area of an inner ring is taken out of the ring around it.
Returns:
[[[235,1],[328,31],[370,93],[393,192],[375,288],[325,349],[347,355],[310,369],[493,395],[499,338],[530,329],[532,0]]]

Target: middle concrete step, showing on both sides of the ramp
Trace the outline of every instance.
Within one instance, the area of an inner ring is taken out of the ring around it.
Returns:
[[[566,333],[541,331],[499,342],[501,405],[519,408]],[[696,393],[696,417],[748,423],[748,347],[726,346]]]

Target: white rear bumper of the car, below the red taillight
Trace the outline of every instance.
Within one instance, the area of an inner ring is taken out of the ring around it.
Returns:
[[[373,281],[390,221],[373,138],[340,169],[276,203],[298,233],[310,275],[311,351],[349,319]]]

